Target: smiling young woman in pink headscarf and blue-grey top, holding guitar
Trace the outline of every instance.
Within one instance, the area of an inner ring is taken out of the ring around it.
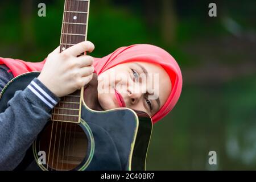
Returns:
[[[102,58],[77,57],[93,49],[90,42],[61,53],[58,47],[40,63],[0,58],[1,90],[13,77],[42,71],[26,89],[17,91],[6,111],[0,113],[0,169],[18,166],[60,97],[84,85],[85,103],[94,110],[129,107],[146,112],[156,123],[175,106],[181,93],[181,71],[162,48],[137,44]],[[88,97],[92,90],[97,94]]]

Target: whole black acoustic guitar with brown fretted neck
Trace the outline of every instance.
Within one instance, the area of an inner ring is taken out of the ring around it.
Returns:
[[[86,40],[89,4],[89,0],[65,0],[60,52]],[[13,78],[0,94],[0,111],[39,74]],[[152,119],[142,111],[123,107],[92,110],[83,93],[84,87],[61,98],[16,170],[145,169]]]

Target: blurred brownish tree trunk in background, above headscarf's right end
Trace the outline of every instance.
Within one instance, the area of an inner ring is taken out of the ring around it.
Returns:
[[[173,0],[162,0],[160,30],[164,44],[174,44],[176,35],[176,11]]]

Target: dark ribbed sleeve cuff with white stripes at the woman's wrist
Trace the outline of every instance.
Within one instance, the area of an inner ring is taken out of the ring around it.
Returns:
[[[44,105],[48,106],[49,109],[53,107],[60,101],[60,98],[55,96],[38,78],[34,78],[27,86],[34,96],[38,97]]]

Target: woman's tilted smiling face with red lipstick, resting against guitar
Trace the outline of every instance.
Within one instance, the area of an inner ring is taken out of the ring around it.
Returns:
[[[170,93],[170,78],[157,64],[123,63],[98,76],[98,101],[104,110],[128,107],[152,116]]]

